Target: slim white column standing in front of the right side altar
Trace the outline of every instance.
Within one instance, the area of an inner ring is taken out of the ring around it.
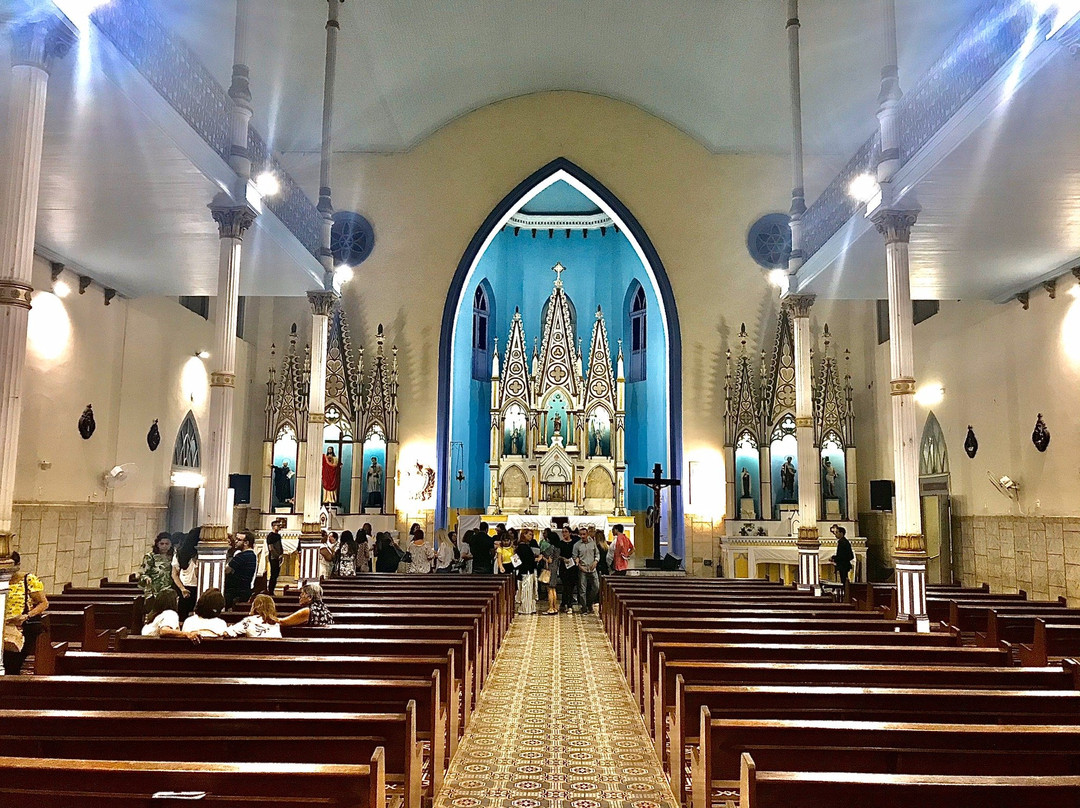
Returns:
[[[821,587],[818,536],[821,460],[813,443],[813,387],[810,363],[810,307],[812,295],[793,295],[785,301],[792,310],[795,331],[795,439],[798,441],[799,474],[799,589]]]

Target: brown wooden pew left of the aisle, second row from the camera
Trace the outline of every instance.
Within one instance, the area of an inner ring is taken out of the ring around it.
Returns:
[[[387,782],[402,787],[403,808],[420,808],[421,748],[411,701],[403,713],[0,710],[3,755],[18,750],[43,758],[353,765],[377,748],[384,753]]]

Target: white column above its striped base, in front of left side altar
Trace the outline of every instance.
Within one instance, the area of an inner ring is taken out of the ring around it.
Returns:
[[[308,390],[308,452],[303,475],[303,537],[319,536],[323,504],[323,429],[326,426],[326,338],[336,292],[309,292],[311,304],[311,376]],[[302,563],[302,556],[301,556]]]

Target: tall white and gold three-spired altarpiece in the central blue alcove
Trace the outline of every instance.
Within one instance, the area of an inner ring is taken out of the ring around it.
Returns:
[[[616,366],[599,307],[588,359],[563,291],[565,268],[544,307],[539,348],[514,311],[500,367],[491,362],[488,513],[623,516],[626,460],[623,358]]]

